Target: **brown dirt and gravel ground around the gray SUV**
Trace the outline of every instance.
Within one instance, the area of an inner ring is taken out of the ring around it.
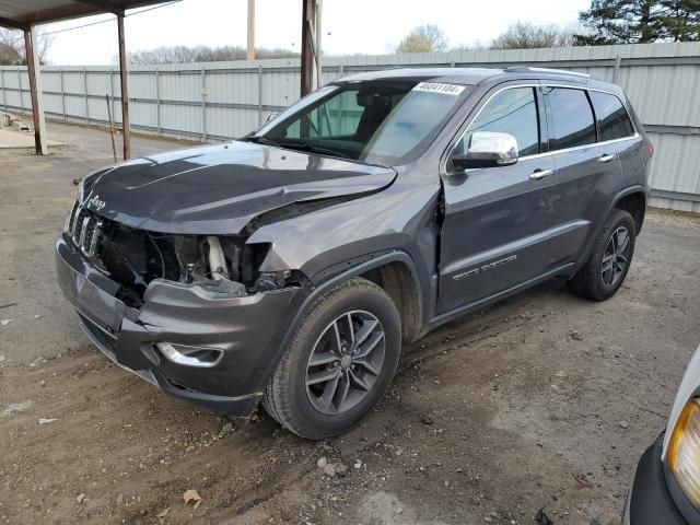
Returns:
[[[650,212],[606,303],[550,282],[406,346],[375,413],[313,443],[262,412],[232,430],[90,346],[52,250],[109,142],[49,131],[71,145],[0,156],[0,523],[619,523],[700,342],[700,218]]]

